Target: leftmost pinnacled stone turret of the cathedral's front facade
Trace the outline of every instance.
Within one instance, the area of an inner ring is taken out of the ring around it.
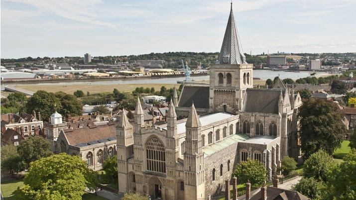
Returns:
[[[122,109],[117,128],[118,180],[119,192],[128,191],[127,159],[133,156],[132,125],[127,119],[125,109]]]

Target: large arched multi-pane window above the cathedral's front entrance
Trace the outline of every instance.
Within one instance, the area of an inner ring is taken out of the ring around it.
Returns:
[[[147,170],[166,173],[166,151],[163,143],[157,137],[152,137],[146,143]]]

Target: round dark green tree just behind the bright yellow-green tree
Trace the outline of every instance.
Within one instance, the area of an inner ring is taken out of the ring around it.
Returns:
[[[51,156],[49,142],[40,136],[29,137],[17,146],[17,152],[26,168],[35,160]]]

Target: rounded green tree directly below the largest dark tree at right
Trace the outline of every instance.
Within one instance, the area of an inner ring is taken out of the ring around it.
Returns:
[[[326,181],[328,173],[335,167],[333,157],[326,152],[319,150],[313,153],[303,165],[303,174],[307,178]]]

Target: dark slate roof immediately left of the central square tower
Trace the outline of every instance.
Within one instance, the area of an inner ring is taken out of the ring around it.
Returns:
[[[193,101],[196,108],[209,108],[209,86],[184,86],[178,106],[190,107]]]

